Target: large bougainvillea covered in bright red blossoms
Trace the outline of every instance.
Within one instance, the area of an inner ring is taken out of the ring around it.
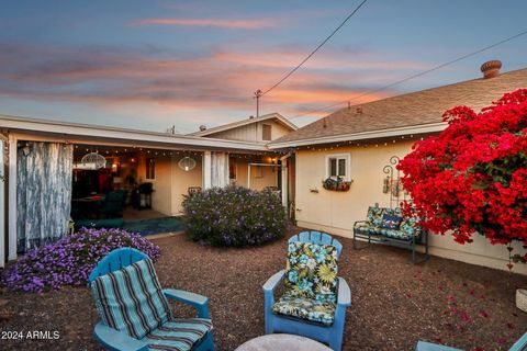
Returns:
[[[416,143],[397,166],[413,199],[406,214],[460,244],[480,233],[492,244],[527,245],[527,89],[481,113],[453,107],[444,121],[445,131]]]

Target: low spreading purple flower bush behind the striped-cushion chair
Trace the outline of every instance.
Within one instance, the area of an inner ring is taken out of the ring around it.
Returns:
[[[122,229],[87,229],[54,244],[32,250],[11,265],[2,285],[23,292],[42,292],[63,285],[85,285],[97,263],[111,251],[131,247],[152,259],[159,258],[159,247],[138,234]]]

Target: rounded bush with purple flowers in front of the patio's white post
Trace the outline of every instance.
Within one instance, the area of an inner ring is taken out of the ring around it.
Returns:
[[[255,246],[281,237],[289,220],[280,196],[271,190],[213,188],[184,196],[189,237],[213,246]]]

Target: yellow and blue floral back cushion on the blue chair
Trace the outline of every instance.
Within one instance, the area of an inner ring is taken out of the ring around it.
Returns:
[[[337,249],[329,245],[290,242],[285,295],[307,298],[337,294]]]

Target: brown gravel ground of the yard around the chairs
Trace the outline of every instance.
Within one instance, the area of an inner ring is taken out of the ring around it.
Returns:
[[[413,265],[405,250],[375,245],[354,250],[351,240],[340,240],[339,275],[352,293],[344,350],[413,350],[418,339],[464,350],[507,350],[527,331],[527,314],[514,303],[526,276],[436,257]],[[264,333],[261,285],[284,267],[285,238],[248,249],[200,247],[184,235],[155,242],[161,247],[156,263],[161,284],[210,297],[216,350],[234,350]],[[187,306],[173,308],[192,315]],[[99,350],[91,336],[97,319],[86,287],[0,291],[0,349]],[[52,340],[27,339],[33,330],[51,331]],[[24,340],[5,340],[12,332],[22,332]]]

